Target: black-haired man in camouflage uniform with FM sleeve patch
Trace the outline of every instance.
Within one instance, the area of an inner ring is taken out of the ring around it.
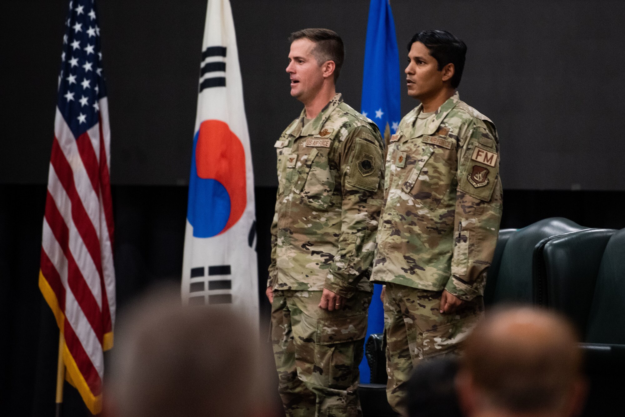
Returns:
[[[387,398],[404,414],[412,368],[456,354],[484,310],[502,207],[495,126],[456,92],[464,42],[424,31],[408,51],[408,94],[421,104],[391,137],[371,278],[385,284]]]

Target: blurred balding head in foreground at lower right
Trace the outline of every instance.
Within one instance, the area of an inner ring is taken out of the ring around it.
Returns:
[[[586,382],[571,324],[535,308],[486,316],[464,346],[456,387],[474,416],[576,416]]]

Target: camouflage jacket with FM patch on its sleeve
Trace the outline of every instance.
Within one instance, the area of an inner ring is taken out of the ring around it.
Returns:
[[[456,92],[415,128],[400,122],[386,157],[372,282],[482,295],[501,220],[495,125]]]

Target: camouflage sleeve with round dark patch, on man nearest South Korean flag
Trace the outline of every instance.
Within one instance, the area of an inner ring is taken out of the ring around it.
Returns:
[[[324,288],[351,297],[371,273],[382,207],[384,145],[377,129],[356,127],[337,150],[341,175],[341,236]]]

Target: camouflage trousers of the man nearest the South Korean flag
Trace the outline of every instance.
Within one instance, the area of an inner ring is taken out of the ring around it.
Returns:
[[[317,307],[321,291],[274,291],[271,340],[287,417],[359,417],[362,360],[371,293],[342,310]]]

